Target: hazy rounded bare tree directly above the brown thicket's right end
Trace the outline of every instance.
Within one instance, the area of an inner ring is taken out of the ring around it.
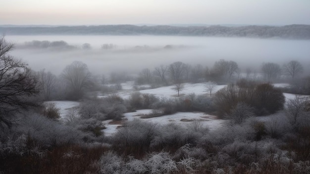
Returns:
[[[276,63],[263,63],[261,67],[261,71],[264,74],[264,78],[266,81],[270,81],[272,79],[277,79],[280,76],[281,68],[280,65]]]

